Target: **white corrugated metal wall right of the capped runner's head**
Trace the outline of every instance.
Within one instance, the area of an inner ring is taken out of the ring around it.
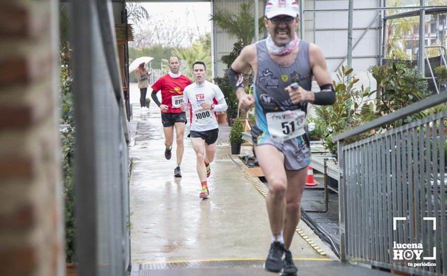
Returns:
[[[377,7],[379,7],[379,0],[354,1],[356,9]],[[348,9],[348,0],[305,0],[304,9]],[[353,45],[378,13],[379,11],[354,11]],[[329,72],[333,72],[348,53],[348,12],[305,13],[304,19],[304,39],[321,47]],[[378,64],[379,26],[379,19],[376,19],[372,28],[353,50],[352,64],[355,71],[367,71],[371,65]],[[344,64],[346,66],[346,61]]]

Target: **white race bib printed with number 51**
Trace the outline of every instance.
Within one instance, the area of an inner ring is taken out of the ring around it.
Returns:
[[[278,142],[293,139],[306,132],[306,113],[302,110],[269,112],[266,117],[270,135]]]

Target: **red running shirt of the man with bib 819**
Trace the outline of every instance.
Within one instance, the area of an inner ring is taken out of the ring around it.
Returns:
[[[183,95],[183,89],[190,85],[189,78],[180,75],[178,78],[173,78],[169,74],[166,74],[159,78],[151,87],[158,93],[161,90],[161,104],[166,104],[168,110],[162,113],[181,113],[183,112],[180,107],[172,107],[172,96]]]

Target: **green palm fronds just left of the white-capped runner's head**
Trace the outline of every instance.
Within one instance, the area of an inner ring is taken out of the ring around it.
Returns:
[[[228,34],[244,46],[249,45],[255,38],[255,17],[254,17],[253,0],[243,2],[239,5],[238,13],[233,14],[228,10],[217,10],[216,13],[210,15],[210,19],[220,29],[227,31]],[[263,18],[258,19],[259,33],[264,30]]]

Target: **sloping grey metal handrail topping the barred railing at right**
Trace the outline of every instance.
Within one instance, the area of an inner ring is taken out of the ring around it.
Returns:
[[[424,109],[438,105],[438,104],[446,102],[446,101],[447,101],[447,93],[436,94],[434,96],[425,98],[421,101],[415,102],[415,103],[405,106],[401,109],[398,109],[390,114],[387,114],[385,116],[382,116],[380,118],[377,118],[375,120],[367,122],[363,125],[354,127],[353,129],[350,129],[348,131],[340,133],[332,138],[332,142],[346,140],[346,139],[353,137],[357,134],[360,134],[360,133],[366,132],[368,130],[383,126],[387,123],[396,121],[398,119],[404,118],[406,116],[412,115],[414,113],[417,113],[419,111],[422,111]]]

